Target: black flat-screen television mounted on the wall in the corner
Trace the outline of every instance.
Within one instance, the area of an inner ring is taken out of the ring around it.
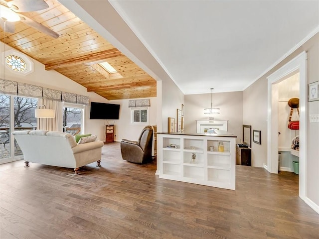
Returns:
[[[119,119],[120,105],[91,102],[90,119]]]

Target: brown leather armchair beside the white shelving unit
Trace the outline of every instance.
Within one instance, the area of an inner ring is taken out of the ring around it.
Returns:
[[[122,158],[132,163],[146,163],[152,160],[153,127],[143,128],[138,141],[122,139]]]

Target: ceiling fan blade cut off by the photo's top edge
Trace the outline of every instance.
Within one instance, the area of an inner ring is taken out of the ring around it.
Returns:
[[[49,7],[44,0],[12,0],[6,4],[15,12],[38,11]]]

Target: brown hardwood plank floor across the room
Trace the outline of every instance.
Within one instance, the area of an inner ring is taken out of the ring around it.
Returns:
[[[236,166],[236,191],[159,179],[156,162],[102,167],[22,161],[0,166],[1,239],[319,239],[319,215],[298,197],[298,175]]]

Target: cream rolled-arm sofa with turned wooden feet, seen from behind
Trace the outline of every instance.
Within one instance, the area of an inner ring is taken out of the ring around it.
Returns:
[[[45,165],[79,168],[93,162],[100,166],[103,141],[77,144],[69,133],[45,130],[20,130],[12,132],[20,146],[25,166],[29,162]]]

